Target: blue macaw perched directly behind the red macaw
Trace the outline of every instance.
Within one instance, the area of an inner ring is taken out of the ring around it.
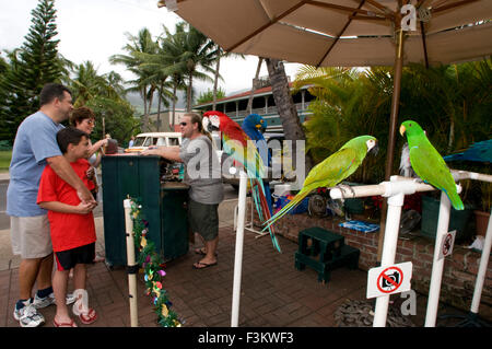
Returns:
[[[265,139],[262,132],[267,129],[267,121],[258,114],[249,114],[243,120],[241,128],[248,135],[248,137],[255,141],[255,146],[258,149],[263,165],[266,167],[271,164],[271,153],[269,152],[267,140]],[[271,206],[271,191],[270,186],[263,181],[265,197],[267,198],[268,209],[270,210],[270,216],[273,213]]]

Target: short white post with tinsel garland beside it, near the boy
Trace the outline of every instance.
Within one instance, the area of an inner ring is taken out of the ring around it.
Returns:
[[[127,268],[128,270],[128,295],[130,298],[130,325],[138,327],[139,311],[137,306],[137,275],[134,269],[137,264],[134,261],[134,242],[133,242],[133,221],[130,217],[131,200],[124,200],[125,208],[125,230],[127,236]]]

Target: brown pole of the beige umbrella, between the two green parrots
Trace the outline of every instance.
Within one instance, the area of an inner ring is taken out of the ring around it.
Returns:
[[[385,181],[389,181],[393,172],[393,159],[395,155],[395,142],[398,123],[398,109],[400,106],[400,91],[401,91],[401,71],[403,69],[403,31],[399,26],[399,18],[397,18],[396,23],[398,23],[397,31],[397,49],[395,57],[395,77],[393,81],[393,100],[391,100],[391,116],[389,119],[389,133],[388,133],[388,151],[386,155],[386,170],[385,170]],[[379,240],[377,243],[377,264],[380,265],[380,258],[383,253],[383,243],[385,241],[385,228],[386,228],[386,212],[387,212],[387,200],[383,200],[380,209],[380,222],[379,222]]]

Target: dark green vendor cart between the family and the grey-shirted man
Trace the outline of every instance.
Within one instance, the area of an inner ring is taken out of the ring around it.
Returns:
[[[164,260],[185,255],[189,246],[188,186],[161,181],[165,161],[153,155],[115,154],[103,156],[102,166],[106,263],[127,264],[122,203],[127,196],[140,199],[142,218],[149,222],[147,236]]]

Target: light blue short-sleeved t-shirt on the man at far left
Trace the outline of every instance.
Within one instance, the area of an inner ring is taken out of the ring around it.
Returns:
[[[33,217],[46,214],[36,205],[37,190],[46,159],[61,155],[57,132],[63,126],[42,112],[21,123],[15,135],[10,163],[10,183],[7,189],[7,214]]]

